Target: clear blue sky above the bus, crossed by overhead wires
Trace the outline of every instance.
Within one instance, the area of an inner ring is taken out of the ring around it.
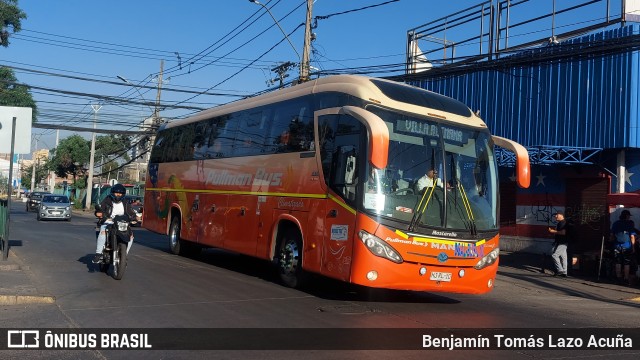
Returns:
[[[277,87],[268,82],[276,78],[272,69],[297,63],[302,54],[306,1],[262,3],[293,47],[265,8],[248,0],[19,0],[27,19],[9,47],[0,48],[0,65],[13,67],[18,81],[32,86],[41,124],[91,128],[95,117],[100,129],[136,130],[154,110],[161,61],[160,115],[168,119]],[[312,17],[329,17],[313,29],[311,66],[328,71],[395,64],[385,68],[395,71],[371,75],[400,75],[409,29],[480,3],[316,0]],[[589,10],[584,19],[598,11]],[[547,36],[541,28],[539,36]],[[453,31],[442,36],[456,38]],[[297,76],[296,67],[286,80]],[[94,112],[92,105],[101,107]],[[60,138],[72,134],[60,131]],[[32,150],[36,146],[55,147],[56,131],[34,128]]]

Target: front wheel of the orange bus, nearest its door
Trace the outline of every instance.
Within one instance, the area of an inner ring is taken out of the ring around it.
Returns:
[[[300,233],[294,229],[286,230],[279,244],[277,266],[280,281],[288,287],[298,288],[304,283]]]

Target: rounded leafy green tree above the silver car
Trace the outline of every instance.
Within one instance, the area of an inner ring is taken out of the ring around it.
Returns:
[[[49,168],[59,177],[66,178],[68,175],[73,175],[73,184],[81,185],[76,184],[76,177],[85,174],[90,152],[89,141],[80,135],[69,136],[62,139],[58,147],[53,150]]]

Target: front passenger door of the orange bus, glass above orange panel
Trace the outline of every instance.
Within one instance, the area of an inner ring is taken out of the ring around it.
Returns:
[[[365,167],[361,145],[367,136],[358,120],[349,115],[339,115],[337,110],[318,111],[316,117],[323,186],[328,195],[324,214],[322,274],[348,281],[353,241],[357,236],[355,209],[361,198],[358,179]]]

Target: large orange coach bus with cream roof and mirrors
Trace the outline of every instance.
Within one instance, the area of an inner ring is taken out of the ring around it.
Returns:
[[[158,130],[143,226],[171,251],[216,247],[368,287],[484,293],[499,254],[494,145],[462,103],[363,76],[320,78]],[[427,179],[431,174],[433,178]]]

